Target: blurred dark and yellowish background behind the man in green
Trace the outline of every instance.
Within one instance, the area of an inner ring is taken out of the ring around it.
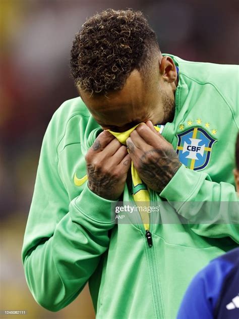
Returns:
[[[107,8],[142,10],[164,53],[239,62],[237,0],[0,0],[0,309],[27,310],[31,319],[95,317],[88,287],[56,313],[39,306],[21,249],[44,132],[59,105],[77,96],[69,71],[74,34]]]

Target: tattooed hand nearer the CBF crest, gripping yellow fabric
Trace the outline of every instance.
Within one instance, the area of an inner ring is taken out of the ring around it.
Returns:
[[[181,166],[172,145],[151,121],[140,124],[126,144],[141,179],[149,188],[161,192]]]

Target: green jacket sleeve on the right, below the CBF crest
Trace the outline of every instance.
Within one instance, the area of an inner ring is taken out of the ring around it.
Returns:
[[[231,237],[239,243],[239,201],[229,183],[215,183],[204,172],[182,166],[159,194],[198,235]]]

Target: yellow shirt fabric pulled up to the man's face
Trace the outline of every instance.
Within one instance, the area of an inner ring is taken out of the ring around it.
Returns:
[[[112,132],[111,130],[109,131],[114,137],[117,138],[117,140],[126,145],[126,140],[128,137],[130,137],[130,134],[139,126],[139,124],[135,125],[128,131],[118,133],[118,132]],[[160,129],[157,126],[154,126],[154,128],[159,131]],[[138,172],[136,171],[134,164],[132,162],[131,164],[131,176],[132,176],[132,181],[134,187],[136,187],[139,184],[143,184]],[[149,196],[149,191],[148,189],[140,189],[138,190],[135,194],[133,193],[133,198],[136,203],[136,205],[140,208],[140,215],[142,222],[144,224],[145,230],[149,230],[149,205],[150,205],[150,196]]]

